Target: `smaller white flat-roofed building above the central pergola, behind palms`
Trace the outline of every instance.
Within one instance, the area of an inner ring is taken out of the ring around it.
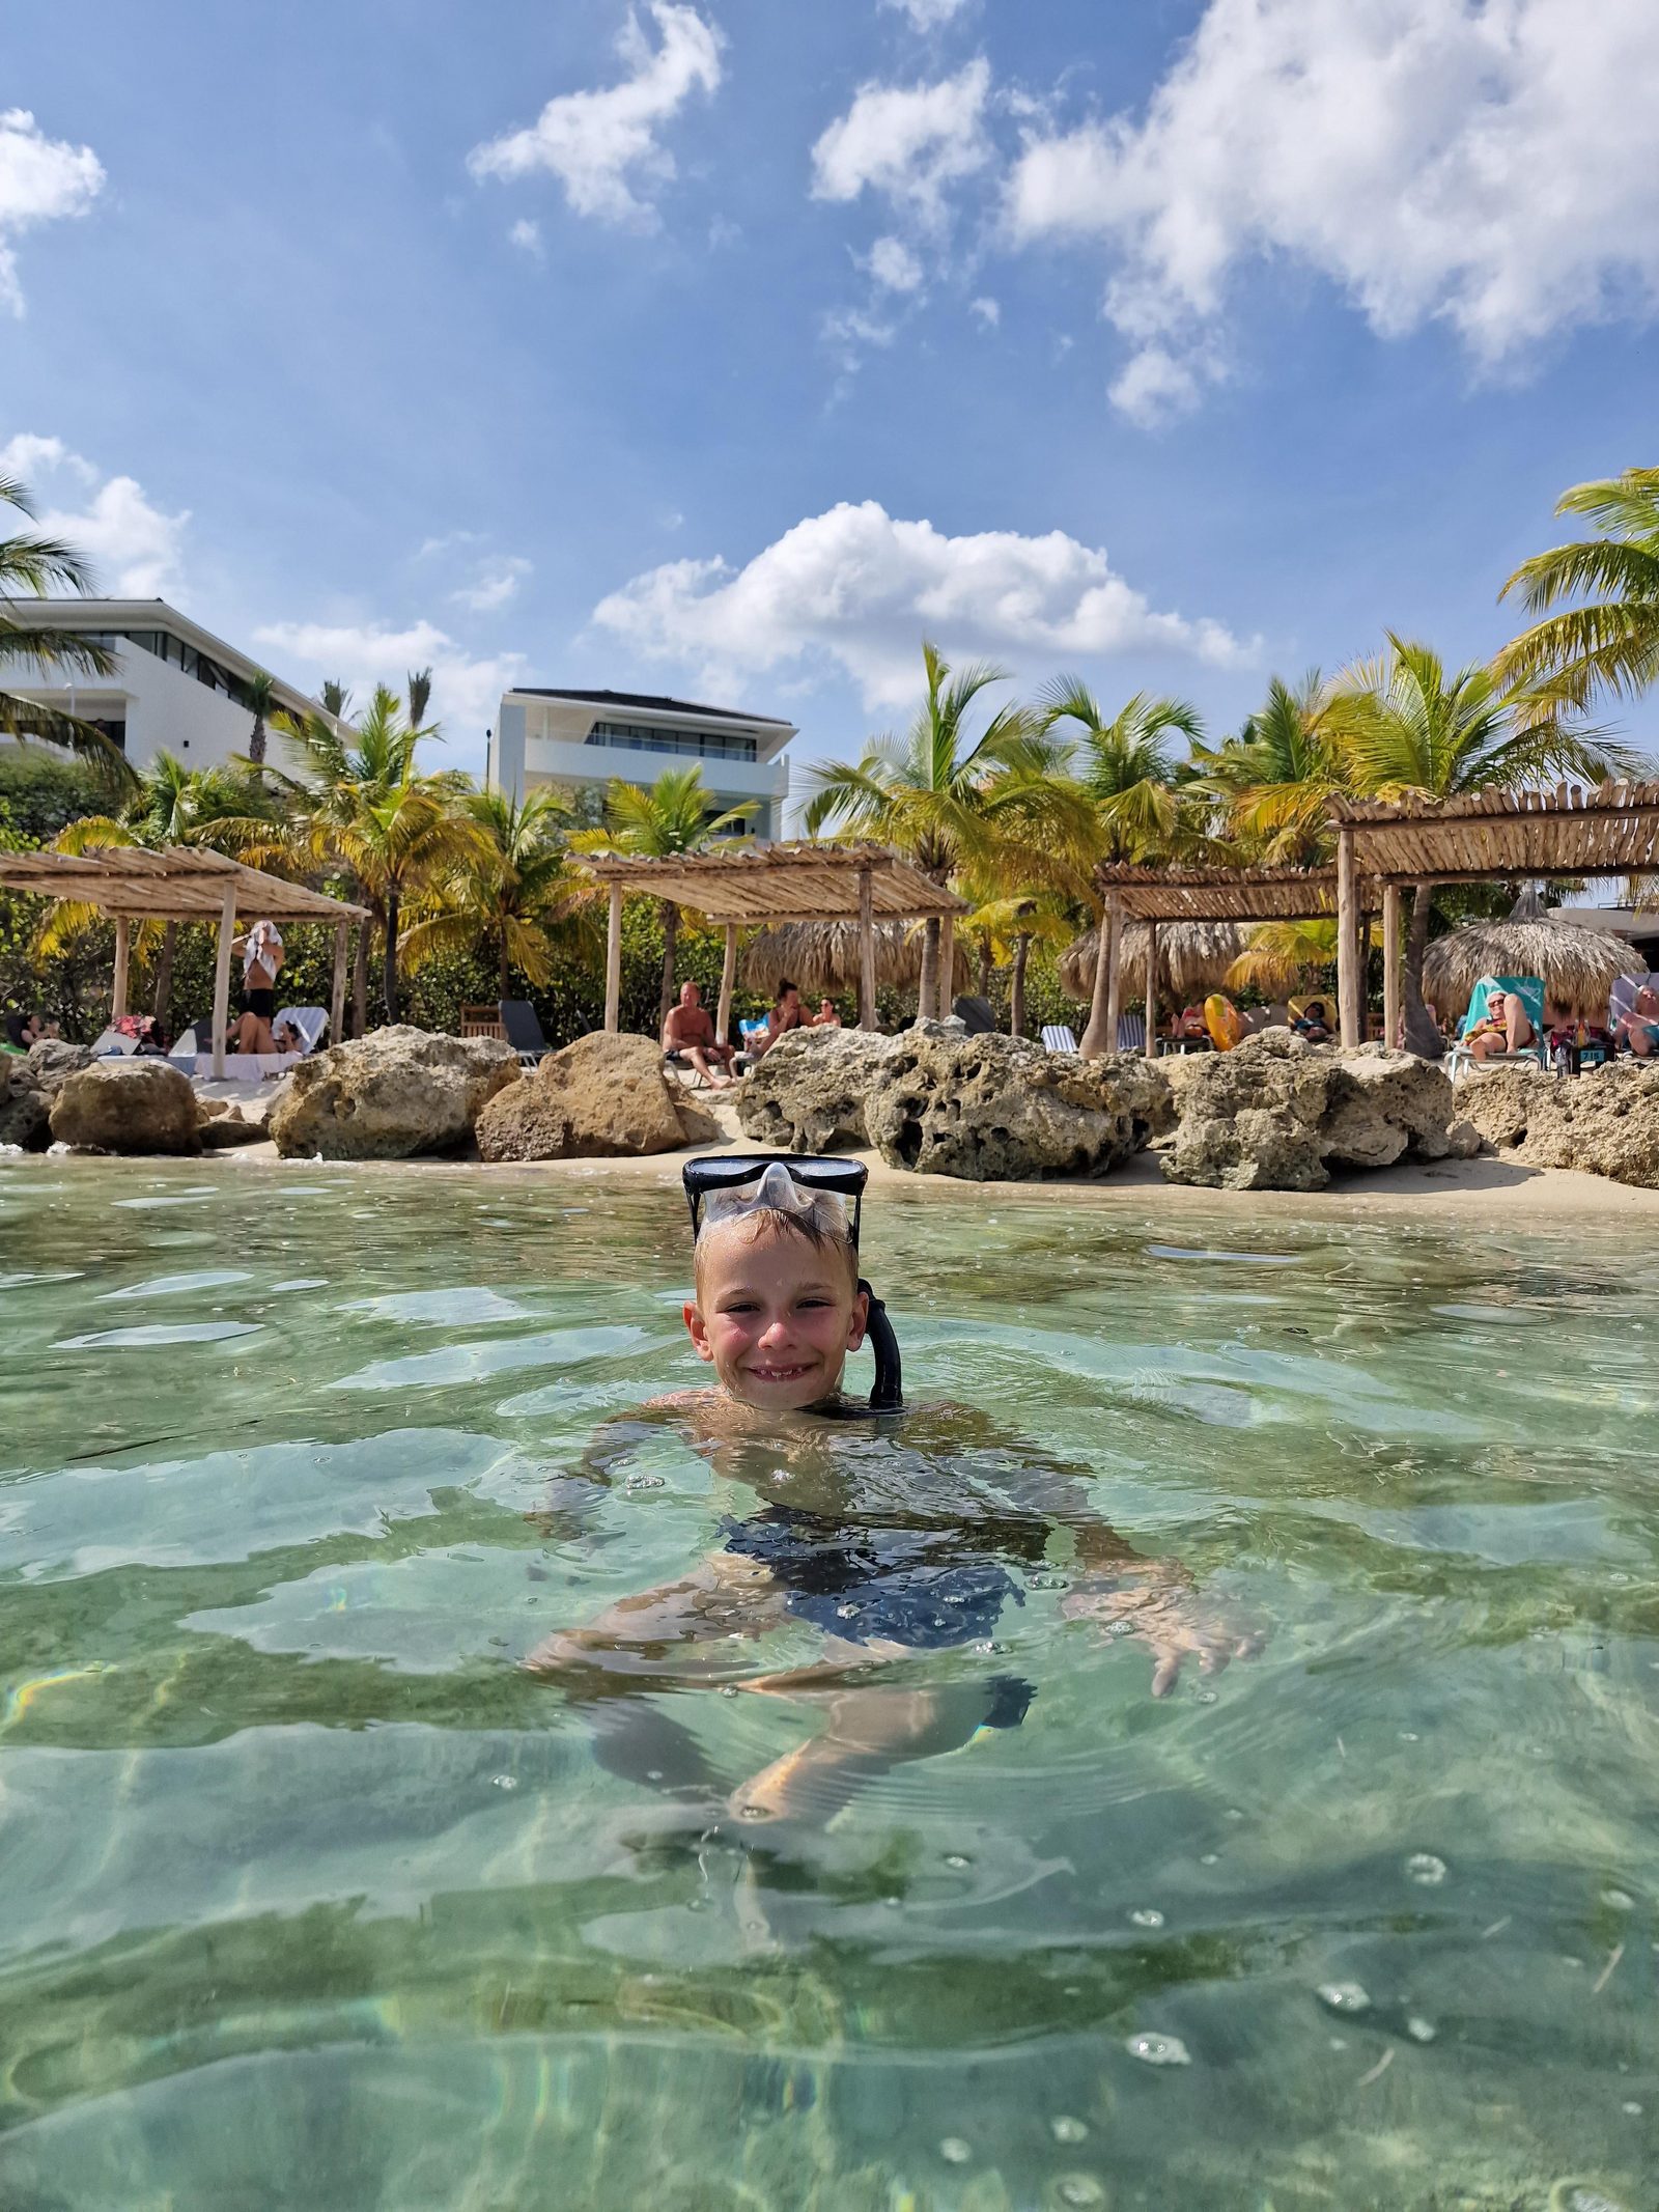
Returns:
[[[779,759],[796,734],[770,714],[655,699],[644,692],[509,690],[489,734],[489,783],[524,792],[538,783],[566,790],[608,783],[650,785],[697,761],[712,814],[743,807],[754,836],[783,834],[790,763]]]

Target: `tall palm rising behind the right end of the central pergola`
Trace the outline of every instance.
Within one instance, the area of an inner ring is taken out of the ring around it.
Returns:
[[[878,737],[852,765],[810,772],[816,792],[805,825],[894,845],[933,883],[958,869],[993,874],[1046,865],[1044,823],[1066,812],[1060,748],[1044,741],[1026,708],[1004,706],[978,737],[969,721],[980,692],[1006,684],[1006,668],[975,661],[951,675],[938,646],[922,644],[927,695],[905,739]],[[1075,812],[1075,807],[1073,807]],[[1040,878],[1037,878],[1040,880]],[[922,1018],[938,1009],[940,925],[922,940]]]

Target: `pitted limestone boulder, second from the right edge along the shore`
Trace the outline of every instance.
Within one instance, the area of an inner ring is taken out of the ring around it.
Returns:
[[[1453,1095],[1413,1053],[1343,1053],[1265,1029],[1232,1053],[1192,1055],[1164,1172],[1219,1190],[1323,1190],[1332,1168],[1444,1159]]]

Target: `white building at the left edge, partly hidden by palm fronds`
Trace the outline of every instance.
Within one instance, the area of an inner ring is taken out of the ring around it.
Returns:
[[[261,664],[166,599],[27,599],[20,617],[33,628],[95,637],[117,668],[108,677],[80,677],[9,661],[7,690],[97,723],[139,772],[157,752],[177,754],[186,768],[221,768],[248,752],[254,728],[248,677]],[[272,712],[307,714],[314,706],[292,684],[276,684]],[[274,757],[276,741],[270,750]]]

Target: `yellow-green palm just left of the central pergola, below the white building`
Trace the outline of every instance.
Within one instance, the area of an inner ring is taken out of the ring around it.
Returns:
[[[460,812],[478,843],[422,894],[403,958],[414,971],[438,953],[471,951],[484,936],[495,947],[502,998],[509,969],[540,989],[553,973],[555,942],[586,938],[593,911],[593,885],[571,865],[564,841],[568,810],[535,790],[526,799],[469,792]]]

